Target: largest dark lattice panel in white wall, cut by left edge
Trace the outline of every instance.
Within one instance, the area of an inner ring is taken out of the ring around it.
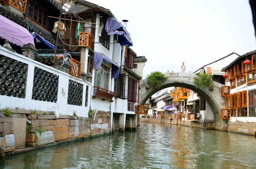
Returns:
[[[25,98],[26,63],[0,54],[0,95]]]

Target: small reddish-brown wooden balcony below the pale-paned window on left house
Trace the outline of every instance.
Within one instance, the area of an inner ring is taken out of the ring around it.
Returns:
[[[115,92],[111,92],[109,90],[103,89],[101,87],[94,86],[95,95],[93,95],[93,99],[100,98],[101,100],[108,100],[110,102],[113,102],[113,97]]]

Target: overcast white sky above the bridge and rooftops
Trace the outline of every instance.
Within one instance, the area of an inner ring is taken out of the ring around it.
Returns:
[[[195,72],[233,51],[256,49],[249,0],[89,0],[127,30],[137,56],[148,59],[143,79],[154,71]]]

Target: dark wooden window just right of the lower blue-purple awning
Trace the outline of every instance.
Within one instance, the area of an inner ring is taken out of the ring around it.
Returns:
[[[126,74],[119,75],[114,81],[115,97],[127,99],[128,94],[128,76]]]

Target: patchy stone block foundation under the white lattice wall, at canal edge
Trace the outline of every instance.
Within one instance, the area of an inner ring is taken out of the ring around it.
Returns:
[[[54,112],[9,111],[12,115],[8,118],[3,118],[0,112],[0,145],[10,154],[110,133],[111,115],[108,112],[98,111],[93,121],[95,112],[90,118],[70,115],[57,118]]]

